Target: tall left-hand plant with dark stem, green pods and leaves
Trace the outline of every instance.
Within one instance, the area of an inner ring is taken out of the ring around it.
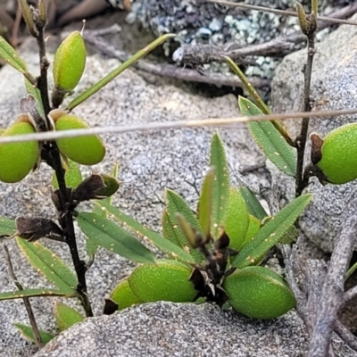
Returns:
[[[19,4],[29,31],[37,40],[40,54],[40,74],[36,77],[29,73],[26,62],[3,37],[0,37],[0,58],[11,65],[14,70],[23,74],[25,87],[28,91],[27,97],[21,98],[21,115],[19,115],[18,120],[1,132],[6,137],[51,130],[89,128],[87,122],[72,115],[71,110],[95,94],[112,79],[115,79],[133,62],[152,51],[156,46],[160,46],[167,38],[172,37],[172,35],[159,37],[110,72],[104,79],[77,95],[67,107],[63,107],[64,98],[73,94],[73,90],[78,85],[85,69],[86,47],[82,34],[79,31],[74,31],[66,37],[54,55],[54,62],[51,63],[46,59],[46,40],[44,37],[46,10],[43,2],[39,1],[37,8],[30,7],[25,0],[20,0]],[[51,64],[53,64],[54,88],[49,92],[47,70],[51,67]],[[61,110],[59,110],[60,106],[62,106]],[[21,181],[29,174],[30,170],[40,169],[41,162],[46,162],[54,170],[54,189],[51,198],[58,213],[56,220],[36,217],[18,217],[15,222],[1,220],[1,236],[18,236],[16,241],[21,251],[55,288],[28,289],[17,285],[19,291],[1,293],[0,299],[27,299],[30,296],[77,297],[85,314],[87,316],[93,315],[87,296],[85,277],[90,264],[79,258],[73,220],[78,214],[76,208],[79,203],[91,199],[105,200],[119,188],[116,175],[112,177],[111,175],[93,173],[87,178],[82,178],[78,163],[93,165],[101,162],[104,159],[104,154],[105,146],[101,139],[96,136],[0,145],[0,180],[3,182]],[[43,237],[69,246],[75,272],[68,268],[53,252],[50,252],[38,242],[38,239]],[[142,256],[139,262],[153,262],[154,255],[143,245],[136,245],[136,242],[136,238],[127,235],[123,246],[124,248],[126,245],[137,247],[137,256]],[[95,252],[95,245],[93,246],[92,249]],[[9,267],[12,269],[10,256],[8,256],[8,261]],[[14,281],[16,281],[15,278]],[[26,303],[29,303],[29,301],[26,301]],[[68,325],[71,321],[76,320],[73,319],[75,315],[74,312],[68,313],[68,310],[63,309],[60,305],[56,308],[56,316],[59,317],[59,320],[61,320],[61,316],[64,319],[64,321],[61,321],[62,327],[65,326],[65,321]],[[32,322],[34,321],[31,320]],[[41,339],[48,339],[48,336],[42,334],[41,331],[38,332],[34,325],[30,329],[21,325],[18,328],[26,336],[35,339],[37,342],[40,342]],[[32,337],[29,331],[33,332]]]

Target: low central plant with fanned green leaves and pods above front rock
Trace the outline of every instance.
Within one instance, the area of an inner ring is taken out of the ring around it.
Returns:
[[[115,293],[111,295],[119,309],[122,308],[121,303],[125,307],[129,305],[128,296],[133,299],[132,303],[159,300],[193,302],[203,298],[222,305],[230,301],[237,311],[258,319],[278,317],[295,306],[294,295],[286,286],[284,279],[276,272],[257,265],[262,262],[265,253],[282,240],[303,208],[310,202],[311,195],[303,195],[289,203],[273,220],[267,220],[267,223],[261,227],[261,220],[249,213],[240,191],[234,188],[226,189],[226,185],[229,187],[228,164],[220,137],[215,134],[212,137],[210,163],[218,156],[220,160],[203,180],[196,215],[182,197],[167,190],[161,240],[176,245],[176,252],[169,254],[171,261],[155,260],[139,265],[137,270],[127,278],[127,284],[124,283],[126,280],[120,281],[119,286],[114,289]],[[218,171],[220,174],[216,174]],[[213,190],[215,181],[217,188]],[[221,206],[226,207],[226,212],[212,210],[217,196],[220,197]],[[255,197],[251,198],[251,201],[251,205],[257,204]],[[140,227],[137,222],[129,219],[111,204],[105,202],[98,202],[98,204],[120,225],[135,234],[140,233],[141,237],[146,237],[154,245],[159,246],[156,244],[159,237],[154,232],[150,234],[147,228]],[[229,212],[239,212],[239,214],[234,215]],[[89,240],[91,239],[89,228],[83,226],[99,227],[101,223],[96,222],[94,217],[91,218],[92,221],[88,220],[86,213],[79,214],[79,227],[85,228]],[[213,227],[213,222],[219,220],[221,224],[219,229],[216,229],[217,227]],[[235,221],[237,226],[230,220]],[[242,220],[243,223],[237,220]],[[253,222],[251,229],[249,229],[250,221]],[[228,230],[232,240],[228,237],[226,225],[233,227]],[[235,227],[237,229],[234,229]],[[212,231],[219,232],[217,238],[212,237]],[[154,240],[151,239],[152,235],[155,237]],[[247,235],[249,236],[246,239]],[[99,242],[98,237],[95,237],[95,241]],[[235,249],[236,246],[239,247],[239,253]],[[189,260],[187,260],[187,252],[191,256]],[[192,283],[191,285],[187,284],[187,279]],[[225,283],[226,280],[228,283]],[[234,283],[230,283],[231,281]],[[225,284],[228,286],[228,291],[224,288]],[[265,297],[259,286],[264,286],[262,290],[265,291]],[[237,297],[242,296],[242,291],[247,296],[245,300]],[[244,301],[243,306],[240,306],[237,301]],[[268,310],[267,305],[270,306]]]

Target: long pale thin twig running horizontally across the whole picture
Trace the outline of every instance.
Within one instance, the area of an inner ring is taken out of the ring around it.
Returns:
[[[326,119],[339,115],[357,114],[357,109],[345,109],[339,111],[324,111],[324,112],[293,112],[285,114],[269,114],[269,115],[254,115],[240,116],[233,118],[207,118],[201,120],[178,120],[178,121],[163,121],[137,125],[118,125],[104,128],[89,128],[89,129],[71,129],[61,131],[47,131],[43,133],[16,135],[12,137],[0,137],[0,144],[3,143],[20,143],[25,141],[47,141],[56,140],[62,137],[85,137],[87,135],[100,135],[107,133],[127,133],[131,131],[147,131],[147,130],[168,130],[168,129],[184,129],[184,128],[221,128],[229,125],[237,125],[237,123],[245,123],[250,121],[261,120],[294,120],[310,117],[319,117]]]

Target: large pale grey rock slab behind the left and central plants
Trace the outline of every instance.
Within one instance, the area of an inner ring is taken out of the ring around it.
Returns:
[[[51,41],[51,38],[49,39]],[[30,71],[37,74],[36,46],[29,42],[22,47],[22,56],[29,62]],[[95,83],[116,66],[116,60],[99,56],[87,59],[87,69],[78,90]],[[0,71],[0,128],[7,127],[18,114],[21,96],[26,95],[21,75],[5,66]],[[125,71],[112,84],[94,95],[75,111],[91,125],[129,125],[154,121],[174,121],[229,117],[237,115],[237,102],[233,95],[207,98],[187,93],[172,86],[148,84],[133,71]],[[124,212],[149,227],[158,228],[162,217],[164,187],[170,187],[184,195],[195,207],[197,188],[208,168],[208,153],[214,129],[170,129],[154,132],[130,132],[122,135],[104,136],[108,153],[104,162],[95,169],[108,172],[114,163],[120,164],[120,180],[123,181],[116,203]],[[241,178],[241,165],[262,161],[262,155],[246,129],[237,126],[220,129],[227,145],[228,159],[232,170],[232,182]],[[93,168],[94,169],[94,168]],[[83,167],[86,174],[90,168]],[[258,175],[258,179],[257,179]],[[257,175],[247,174],[245,179],[254,187],[261,183],[268,186],[264,171]],[[260,178],[259,178],[260,176]],[[51,171],[45,164],[41,169],[15,185],[0,184],[0,216],[15,218],[18,215],[34,215],[54,218],[54,209],[49,199]],[[87,206],[84,208],[88,208]],[[159,228],[158,228],[159,229]],[[71,266],[66,246],[43,242],[54,249]],[[6,242],[12,255],[14,270],[26,287],[48,286],[25,260],[15,242]],[[86,259],[85,240],[79,233],[79,250]],[[8,274],[4,254],[0,253],[0,291],[12,291],[15,287]],[[133,264],[119,256],[100,250],[91,269],[87,272],[88,293],[94,305],[95,315],[102,313],[104,296],[116,286],[120,278],[129,275]],[[32,299],[39,328],[56,333],[53,316],[54,300]],[[80,307],[77,302],[68,301]],[[23,303],[8,301],[0,303],[0,356],[30,356],[34,345],[26,342],[13,327],[13,323],[29,324]]]

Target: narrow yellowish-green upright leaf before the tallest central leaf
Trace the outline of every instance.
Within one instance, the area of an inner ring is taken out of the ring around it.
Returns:
[[[214,171],[208,171],[203,180],[200,199],[198,201],[197,216],[200,222],[204,237],[210,237],[211,234],[211,214],[212,214],[212,187],[214,180]]]

